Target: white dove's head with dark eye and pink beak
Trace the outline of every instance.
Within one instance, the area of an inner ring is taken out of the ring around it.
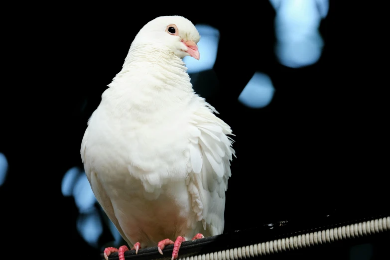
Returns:
[[[132,44],[147,43],[169,50],[179,58],[191,56],[199,60],[198,30],[182,16],[160,16],[142,27]]]

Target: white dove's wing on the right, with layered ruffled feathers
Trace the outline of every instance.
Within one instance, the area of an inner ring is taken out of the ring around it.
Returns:
[[[197,110],[191,122],[188,190],[197,220],[211,236],[224,230],[225,192],[231,176],[230,160],[235,151],[230,127],[217,118],[213,107]]]

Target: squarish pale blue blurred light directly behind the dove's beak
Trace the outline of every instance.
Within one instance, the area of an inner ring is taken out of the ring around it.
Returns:
[[[184,57],[183,61],[186,63],[188,73],[196,73],[212,69],[215,60],[217,59],[217,50],[220,33],[219,30],[205,24],[195,25],[201,36],[198,42],[198,49],[200,59],[196,60],[192,57]]]

